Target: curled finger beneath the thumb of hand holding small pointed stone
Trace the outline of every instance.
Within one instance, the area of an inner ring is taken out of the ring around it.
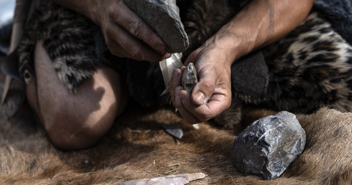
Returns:
[[[202,105],[195,105],[191,100],[191,93],[187,91],[181,91],[180,97],[184,107],[202,122],[206,122],[219,115],[227,109],[227,102],[231,102],[231,100],[228,100],[227,97],[221,94],[213,95],[208,104]]]

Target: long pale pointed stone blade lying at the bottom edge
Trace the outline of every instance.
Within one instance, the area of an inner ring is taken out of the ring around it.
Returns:
[[[165,175],[165,176],[158,176],[158,177],[152,177],[152,178],[130,180],[130,181],[125,181],[121,183],[121,185],[165,185],[165,184],[184,185],[189,183],[190,181],[202,179],[207,176],[208,175],[201,172],[183,173],[178,175]]]

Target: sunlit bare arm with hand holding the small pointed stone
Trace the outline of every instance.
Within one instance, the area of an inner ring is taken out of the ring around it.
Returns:
[[[186,60],[195,64],[199,83],[181,86],[182,69],[170,81],[173,105],[188,123],[207,121],[231,103],[231,64],[250,51],[275,42],[308,15],[314,0],[252,0]],[[208,104],[206,102],[208,101]]]

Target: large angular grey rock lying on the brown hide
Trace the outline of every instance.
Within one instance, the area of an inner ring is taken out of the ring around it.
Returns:
[[[231,158],[244,175],[266,180],[279,177],[306,143],[306,133],[293,113],[283,111],[261,118],[235,138]]]

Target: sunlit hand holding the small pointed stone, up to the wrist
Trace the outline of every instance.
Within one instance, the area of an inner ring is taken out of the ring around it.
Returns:
[[[230,107],[232,58],[224,51],[216,42],[208,40],[190,54],[184,65],[193,62],[199,78],[192,93],[181,86],[185,66],[172,74],[169,85],[172,104],[190,124],[208,121]]]

